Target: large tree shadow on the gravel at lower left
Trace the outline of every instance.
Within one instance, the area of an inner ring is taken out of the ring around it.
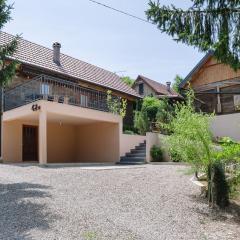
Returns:
[[[47,230],[57,219],[43,198],[49,187],[30,183],[0,184],[0,239],[32,239],[32,229]]]

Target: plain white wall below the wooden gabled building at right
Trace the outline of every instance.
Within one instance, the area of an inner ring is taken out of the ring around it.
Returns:
[[[240,141],[240,113],[215,116],[211,123],[214,137],[231,137]]]

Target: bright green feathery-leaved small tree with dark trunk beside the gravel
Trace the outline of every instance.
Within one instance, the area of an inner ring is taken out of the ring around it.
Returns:
[[[196,172],[205,172],[209,204],[225,207],[228,205],[228,185],[223,165],[215,157],[217,150],[210,131],[211,115],[196,113],[192,107],[193,99],[191,91],[187,104],[176,108],[176,115],[169,124],[172,134],[166,141],[169,148],[190,163]]]

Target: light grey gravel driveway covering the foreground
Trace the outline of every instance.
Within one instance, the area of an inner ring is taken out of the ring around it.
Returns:
[[[239,239],[239,212],[209,210],[186,170],[0,164],[0,239]]]

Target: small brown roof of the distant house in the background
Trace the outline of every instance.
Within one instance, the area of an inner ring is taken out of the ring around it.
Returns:
[[[142,81],[144,81],[148,86],[150,86],[157,95],[165,95],[165,96],[175,96],[175,97],[181,97],[177,92],[175,92],[172,88],[170,89],[170,91],[167,90],[167,86],[156,82],[154,80],[151,80],[147,77],[144,77],[142,75],[139,75],[137,80],[141,79]]]

